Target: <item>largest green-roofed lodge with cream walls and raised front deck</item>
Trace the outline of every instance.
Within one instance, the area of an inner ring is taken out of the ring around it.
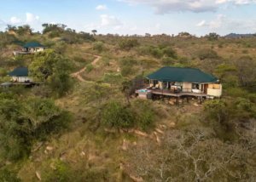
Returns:
[[[147,78],[149,86],[136,91],[141,98],[148,98],[145,94],[219,98],[222,94],[218,78],[199,69],[163,67]]]

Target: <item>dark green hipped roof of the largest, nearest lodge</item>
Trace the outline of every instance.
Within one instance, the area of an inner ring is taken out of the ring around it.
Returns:
[[[199,69],[180,67],[160,68],[148,75],[148,79],[161,82],[218,82],[218,78]]]

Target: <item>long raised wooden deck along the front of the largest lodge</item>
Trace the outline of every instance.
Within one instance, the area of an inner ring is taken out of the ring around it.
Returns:
[[[193,97],[207,97],[207,94],[199,94],[193,92],[180,92],[180,93],[173,93],[171,90],[164,90],[164,89],[153,89],[153,88],[145,88],[149,90],[152,94],[156,95],[166,95],[172,97],[182,97],[182,96],[193,96]],[[139,94],[139,90],[136,91],[136,94]]]

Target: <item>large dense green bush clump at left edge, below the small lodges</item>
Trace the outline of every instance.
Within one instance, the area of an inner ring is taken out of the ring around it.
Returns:
[[[0,155],[8,160],[27,156],[34,140],[67,128],[69,116],[53,100],[0,95]]]

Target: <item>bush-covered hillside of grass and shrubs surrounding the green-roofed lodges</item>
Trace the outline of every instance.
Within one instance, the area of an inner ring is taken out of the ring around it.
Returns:
[[[0,32],[1,83],[19,66],[44,83],[0,88],[0,181],[256,178],[255,37],[123,37],[96,30],[92,36],[65,25],[43,28]],[[48,48],[12,55],[31,41]],[[96,67],[93,54],[102,56]],[[166,98],[134,98],[145,76],[169,65],[218,77],[222,98],[178,107]],[[71,77],[84,68],[85,82]]]

